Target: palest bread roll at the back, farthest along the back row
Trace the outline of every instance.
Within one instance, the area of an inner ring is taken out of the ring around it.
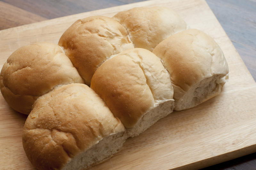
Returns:
[[[126,28],[135,48],[150,51],[165,38],[187,28],[176,12],[165,7],[132,8],[113,18]]]

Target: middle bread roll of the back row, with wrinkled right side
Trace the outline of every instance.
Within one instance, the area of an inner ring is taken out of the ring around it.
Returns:
[[[59,45],[87,85],[111,55],[134,48],[125,28],[115,19],[103,16],[77,20],[61,36]]]

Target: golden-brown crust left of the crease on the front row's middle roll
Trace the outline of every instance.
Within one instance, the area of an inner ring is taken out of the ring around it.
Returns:
[[[116,55],[94,73],[91,88],[106,102],[126,128],[154,106],[154,98],[140,66],[131,58]]]

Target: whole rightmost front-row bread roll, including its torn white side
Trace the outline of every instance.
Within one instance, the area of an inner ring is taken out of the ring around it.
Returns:
[[[153,50],[171,75],[174,110],[194,107],[218,95],[228,79],[228,64],[219,45],[204,32],[189,29]]]

